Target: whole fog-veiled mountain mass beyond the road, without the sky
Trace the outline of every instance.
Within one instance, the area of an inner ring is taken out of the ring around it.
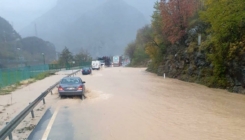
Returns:
[[[38,37],[53,42],[58,50],[67,46],[74,52],[83,47],[91,54],[119,54],[147,23],[137,8],[123,0],[59,0],[21,35],[33,36],[36,24]]]

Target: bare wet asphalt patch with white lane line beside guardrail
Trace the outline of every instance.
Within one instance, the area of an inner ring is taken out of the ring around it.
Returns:
[[[79,98],[70,100],[81,102]],[[68,106],[60,103],[53,105],[42,116],[28,140],[73,140],[73,124],[68,116],[70,116]]]

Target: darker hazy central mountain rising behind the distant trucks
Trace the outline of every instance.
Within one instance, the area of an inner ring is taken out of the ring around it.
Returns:
[[[144,15],[123,0],[108,0],[81,16],[65,33],[65,44],[94,56],[121,54],[147,23]]]

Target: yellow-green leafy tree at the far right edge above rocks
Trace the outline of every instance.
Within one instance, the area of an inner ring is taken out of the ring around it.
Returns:
[[[226,75],[234,64],[244,65],[245,1],[205,0],[201,19],[210,24],[209,59],[214,66],[214,83],[227,86]]]

